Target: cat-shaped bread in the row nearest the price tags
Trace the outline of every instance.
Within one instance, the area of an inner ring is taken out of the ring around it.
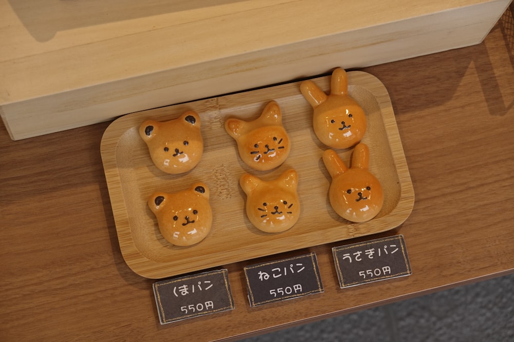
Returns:
[[[239,183],[247,195],[246,215],[256,228],[278,233],[288,230],[298,221],[300,200],[295,170],[285,171],[277,179],[268,181],[245,173]]]

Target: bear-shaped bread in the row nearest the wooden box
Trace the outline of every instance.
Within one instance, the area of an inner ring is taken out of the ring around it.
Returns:
[[[194,111],[166,122],[145,120],[139,127],[139,135],[148,146],[155,166],[166,173],[190,171],[204,152],[200,116]]]

